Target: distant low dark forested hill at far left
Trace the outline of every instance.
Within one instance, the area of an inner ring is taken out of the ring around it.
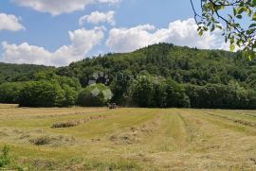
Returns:
[[[53,69],[44,65],[10,64],[0,62],[0,83],[8,81],[28,80],[32,73]]]

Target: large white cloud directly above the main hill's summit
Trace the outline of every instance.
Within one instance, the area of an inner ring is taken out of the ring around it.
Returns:
[[[193,19],[174,21],[168,28],[155,29],[155,26],[135,26],[131,28],[113,28],[109,31],[106,45],[112,52],[130,52],[154,43],[174,43],[203,49],[220,48],[223,41],[219,32],[206,32],[198,36]]]

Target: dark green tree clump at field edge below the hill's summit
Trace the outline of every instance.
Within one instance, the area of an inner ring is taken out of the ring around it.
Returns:
[[[133,100],[146,108],[189,108],[190,99],[185,89],[172,79],[151,78],[137,80],[133,88]]]

